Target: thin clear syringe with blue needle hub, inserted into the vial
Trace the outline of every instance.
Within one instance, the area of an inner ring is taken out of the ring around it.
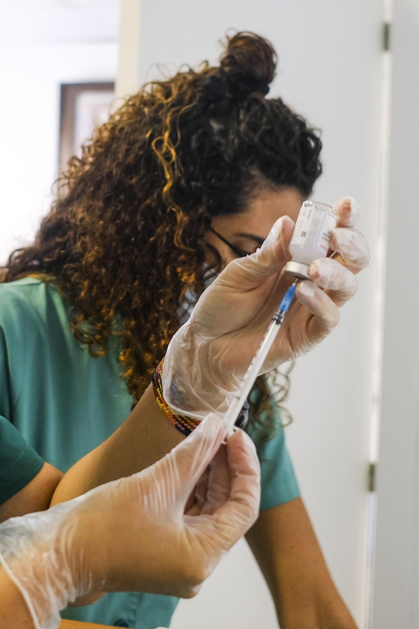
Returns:
[[[240,414],[240,411],[243,408],[243,404],[247,400],[247,396],[252,389],[252,386],[255,383],[257,376],[259,375],[259,370],[265,362],[265,358],[268,355],[269,350],[274,344],[274,340],[276,339],[276,335],[279,332],[279,328],[281,328],[282,321],[284,321],[284,317],[286,313],[288,313],[289,306],[291,306],[291,302],[294,299],[294,293],[297,286],[297,281],[294,282],[292,286],[289,287],[288,291],[284,294],[281,303],[279,304],[276,313],[272,318],[272,323],[267,329],[267,332],[262,339],[262,342],[259,345],[259,349],[255,353],[254,359],[250,363],[247,372],[245,373],[242,384],[235,394],[232,403],[228,407],[228,410],[224,416],[224,421],[228,423],[230,426],[235,424],[235,421]]]

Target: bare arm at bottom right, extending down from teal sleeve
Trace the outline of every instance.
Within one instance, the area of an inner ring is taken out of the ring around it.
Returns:
[[[247,533],[281,629],[356,629],[301,498],[262,511]]]

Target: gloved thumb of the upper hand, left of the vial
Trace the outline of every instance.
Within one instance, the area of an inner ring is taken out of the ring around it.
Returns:
[[[218,283],[230,289],[250,290],[279,272],[290,259],[289,241],[294,225],[289,216],[281,216],[262,247],[252,255],[230,262],[218,277]]]

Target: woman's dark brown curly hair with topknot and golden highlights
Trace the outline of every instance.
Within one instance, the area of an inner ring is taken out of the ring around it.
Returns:
[[[212,269],[204,264],[211,219],[245,211],[267,186],[309,196],[321,173],[318,132],[281,98],[265,97],[275,70],[271,43],[237,33],[219,66],[203,62],[143,86],[69,160],[35,242],[9,257],[3,281],[53,282],[75,306],[72,332],[93,356],[121,337],[135,401],[182,313],[220,270],[219,256]],[[256,417],[269,396],[263,379],[259,389]]]

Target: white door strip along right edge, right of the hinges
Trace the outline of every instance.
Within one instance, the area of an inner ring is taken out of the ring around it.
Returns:
[[[419,3],[393,0],[373,629],[419,628]]]

